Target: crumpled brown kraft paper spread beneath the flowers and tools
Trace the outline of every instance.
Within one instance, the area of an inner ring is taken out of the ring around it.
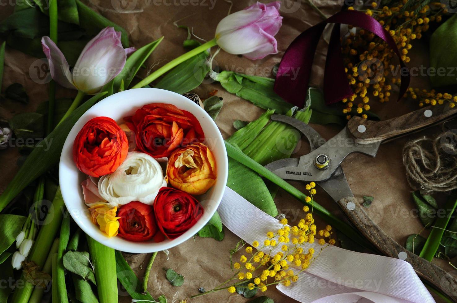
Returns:
[[[187,33],[185,30],[177,28],[174,22],[179,25],[189,26],[196,36],[210,40],[214,36],[218,21],[227,15],[230,8],[230,3],[227,0],[92,0],[90,3],[84,2],[101,13],[101,15],[123,26],[129,34],[131,46],[141,47],[161,36],[165,36],[164,41],[147,61],[149,71],[162,66],[185,52],[182,42],[186,39]],[[232,12],[241,10],[255,1],[236,0],[233,2]],[[321,20],[319,15],[305,2],[300,2],[299,0],[282,1],[283,26],[276,35],[278,54],[251,61],[247,58],[221,51],[214,60],[213,68],[216,71],[232,70],[239,73],[271,77],[271,68],[276,63],[279,63],[290,42],[299,33]],[[330,16],[340,10],[338,3],[339,1],[333,0],[320,1],[319,6],[324,14]],[[13,9],[12,5],[3,5],[0,10],[0,20],[10,15]],[[328,36],[329,30],[327,29],[314,57],[312,86],[321,86],[323,81],[325,53],[328,45],[325,40],[328,40]],[[0,104],[0,117],[2,120],[9,119],[18,112],[33,111],[38,104],[47,99],[48,86],[35,83],[29,73],[29,68],[35,60],[37,58],[29,57],[8,47],[6,48],[2,91],[4,92],[5,88],[10,84],[19,82],[26,88],[30,103],[24,105],[2,99]],[[409,63],[409,67],[420,66],[420,64],[428,66],[428,47],[418,42],[413,47],[412,60]],[[145,71],[141,75],[144,76]],[[413,77],[412,86],[426,88],[429,86],[429,82],[426,78]],[[250,102],[229,94],[220,84],[214,83],[211,79],[205,80],[204,84],[195,89],[195,92],[202,98],[207,98],[213,90],[218,90],[217,95],[222,97],[224,102],[216,120],[224,137],[230,136],[235,131],[232,126],[232,122],[235,119],[251,121],[263,112],[263,110]],[[75,91],[61,87],[57,90],[58,97],[74,97],[75,94]],[[388,119],[417,108],[417,105],[412,101],[402,100],[396,102],[395,99],[396,97],[392,96],[391,101],[387,104],[372,102],[372,110],[377,112],[382,119]],[[334,136],[341,128],[337,125],[312,126],[326,139]],[[388,235],[402,245],[404,245],[408,235],[416,234],[423,228],[416,213],[411,212],[415,205],[410,196],[411,188],[407,183],[402,164],[402,148],[404,143],[413,137],[433,136],[441,130],[442,125],[434,126],[427,131],[383,144],[375,158],[353,154],[347,157],[342,164],[348,183],[355,196],[360,199],[362,199],[363,195],[374,197],[374,202],[367,211]],[[301,148],[296,157],[307,153],[309,150],[307,142],[303,141],[300,144]],[[16,159],[18,156],[16,148],[0,150],[1,190],[6,187],[16,173],[18,169]],[[294,183],[294,185],[304,191],[304,184]],[[319,188],[315,199],[334,214],[341,215],[336,204]],[[286,214],[286,217],[292,222],[297,218],[300,219],[300,215],[303,215],[301,211],[302,204],[282,191],[276,196],[276,205],[279,212]],[[225,228],[224,231],[225,238],[222,242],[197,236],[194,239],[187,240],[180,246],[170,249],[169,259],[164,253],[159,253],[149,277],[149,292],[151,295],[157,298],[159,295],[165,294],[169,300],[168,302],[177,302],[172,298],[185,299],[197,294],[199,287],[210,290],[228,279],[228,277],[231,277],[232,272],[229,267],[228,251],[234,248],[239,238]],[[427,231],[423,232],[423,235],[426,236],[426,234]],[[125,256],[133,271],[138,274],[141,280],[150,254],[125,254]],[[237,256],[239,257],[239,255]],[[354,260],[345,261],[353,262]],[[434,261],[447,271],[452,270],[452,267],[447,262],[437,259]],[[165,279],[165,271],[162,268],[173,268],[176,272],[183,274],[185,277],[184,285],[181,287],[171,286]],[[405,285],[405,287],[407,286]],[[257,296],[260,295],[271,297],[275,302],[296,302],[283,296],[274,287],[270,287],[265,293],[259,292],[257,294]],[[439,298],[436,298],[436,300],[439,302]],[[122,291],[122,289],[119,291],[119,301],[130,302],[128,293]],[[188,299],[187,302],[236,303],[246,301],[245,298],[236,293],[229,294],[226,291],[221,291],[193,300]]]

